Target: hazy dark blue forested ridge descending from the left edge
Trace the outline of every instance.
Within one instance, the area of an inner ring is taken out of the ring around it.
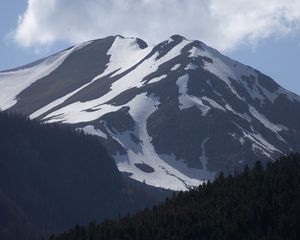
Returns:
[[[142,210],[169,192],[122,176],[98,138],[0,113],[0,239]]]

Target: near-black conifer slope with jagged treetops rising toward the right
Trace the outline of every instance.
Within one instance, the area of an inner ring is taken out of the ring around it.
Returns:
[[[300,155],[224,177],[133,216],[51,240],[279,240],[300,237]]]

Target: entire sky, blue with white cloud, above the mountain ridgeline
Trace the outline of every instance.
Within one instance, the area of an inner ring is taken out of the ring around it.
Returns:
[[[300,95],[300,0],[1,0],[0,71],[109,35],[200,40]]]

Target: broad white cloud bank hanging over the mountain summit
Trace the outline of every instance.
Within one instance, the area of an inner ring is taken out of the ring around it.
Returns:
[[[28,0],[14,37],[30,47],[116,34],[157,43],[178,33],[229,51],[299,24],[299,0]]]

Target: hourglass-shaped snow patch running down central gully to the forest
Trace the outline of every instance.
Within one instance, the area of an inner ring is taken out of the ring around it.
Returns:
[[[198,186],[203,183],[199,179],[189,178],[179,170],[167,164],[156,153],[152,145],[151,137],[147,131],[147,119],[157,109],[159,105],[158,99],[154,97],[147,97],[146,93],[136,96],[128,103],[130,110],[129,114],[136,123],[135,133],[138,134],[139,139],[143,139],[140,144],[141,150],[134,151],[128,148],[127,155],[115,155],[117,166],[122,172],[132,173],[130,176],[141,182],[145,182],[151,186],[170,188],[173,190],[187,190],[192,186]],[[122,139],[117,136],[122,145],[126,146],[128,139]],[[138,163],[146,163],[153,167],[154,172],[145,174],[136,167]]]

